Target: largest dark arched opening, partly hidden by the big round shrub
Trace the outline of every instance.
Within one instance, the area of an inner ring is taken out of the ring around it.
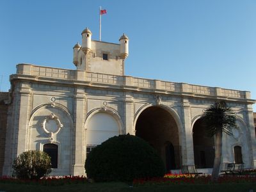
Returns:
[[[179,130],[168,111],[157,106],[142,111],[136,122],[136,136],[156,149],[167,172],[180,168]]]

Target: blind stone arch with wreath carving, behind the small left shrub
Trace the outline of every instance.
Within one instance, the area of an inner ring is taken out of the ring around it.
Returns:
[[[43,150],[44,145],[58,146],[58,167],[51,175],[72,174],[74,121],[65,106],[47,103],[33,109],[29,118],[26,150]]]

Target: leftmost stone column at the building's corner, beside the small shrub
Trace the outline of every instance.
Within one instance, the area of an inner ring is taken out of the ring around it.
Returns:
[[[13,104],[8,110],[3,175],[11,175],[13,159],[28,150],[31,85],[17,83],[13,95]]]

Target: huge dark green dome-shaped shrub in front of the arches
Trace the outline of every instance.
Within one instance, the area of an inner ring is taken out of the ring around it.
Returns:
[[[96,182],[163,177],[164,163],[146,141],[132,135],[109,138],[86,158],[87,177]]]

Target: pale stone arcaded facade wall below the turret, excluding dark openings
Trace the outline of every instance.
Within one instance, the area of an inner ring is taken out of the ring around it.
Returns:
[[[18,65],[17,72],[11,77],[15,84],[8,116],[4,175],[10,175],[12,161],[21,152],[42,150],[45,143],[51,142],[59,147],[58,169],[52,175],[84,175],[86,145],[108,138],[100,136],[100,140],[90,142],[90,121],[108,116],[115,128],[111,128],[109,136],[136,134],[136,121],[150,106],[163,108],[173,116],[179,129],[182,164],[193,164],[193,125],[217,97],[227,100],[239,116],[238,134],[223,136],[223,163],[234,162],[233,148],[241,145],[244,166],[253,168],[256,164],[252,106],[248,104],[254,100],[248,92],[90,72],[78,76],[80,71],[33,65]],[[52,137],[42,129],[42,122],[51,113],[63,124]]]

